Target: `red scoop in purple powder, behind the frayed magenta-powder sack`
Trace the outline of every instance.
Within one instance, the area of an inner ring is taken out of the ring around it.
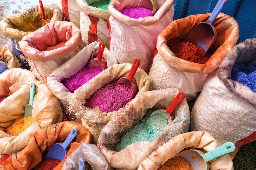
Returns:
[[[90,61],[89,68],[102,67],[102,70],[105,70],[106,68],[108,68],[107,61],[102,58],[104,48],[105,48],[105,45],[103,43],[100,43],[97,58],[94,58]]]

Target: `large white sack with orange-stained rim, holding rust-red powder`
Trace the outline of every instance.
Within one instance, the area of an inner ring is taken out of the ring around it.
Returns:
[[[176,57],[166,43],[177,37],[186,39],[191,28],[199,22],[206,21],[209,16],[210,14],[198,14],[177,19],[159,34],[156,44],[159,53],[154,57],[149,73],[152,79],[151,89],[175,87],[185,93],[188,101],[199,95],[208,73],[216,70],[227,53],[236,45],[239,37],[236,20],[223,13],[214,20],[212,25],[217,30],[217,38],[212,48],[216,51],[206,64]]]

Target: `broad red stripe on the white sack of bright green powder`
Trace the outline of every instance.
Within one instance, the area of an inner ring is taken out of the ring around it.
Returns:
[[[97,36],[97,22],[99,22],[99,18],[97,17],[92,17],[88,15],[91,24],[89,26],[89,31],[88,31],[88,44],[91,44],[94,41],[98,40]]]

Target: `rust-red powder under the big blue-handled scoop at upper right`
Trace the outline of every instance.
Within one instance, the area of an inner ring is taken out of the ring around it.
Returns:
[[[203,48],[180,38],[169,40],[167,46],[172,50],[176,57],[199,64],[205,64],[213,54],[208,51],[204,55],[205,51]]]

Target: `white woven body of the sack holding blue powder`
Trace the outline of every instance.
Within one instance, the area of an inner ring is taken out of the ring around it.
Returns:
[[[191,130],[207,131],[221,143],[246,139],[256,131],[256,107],[237,97],[213,72],[191,112]]]

